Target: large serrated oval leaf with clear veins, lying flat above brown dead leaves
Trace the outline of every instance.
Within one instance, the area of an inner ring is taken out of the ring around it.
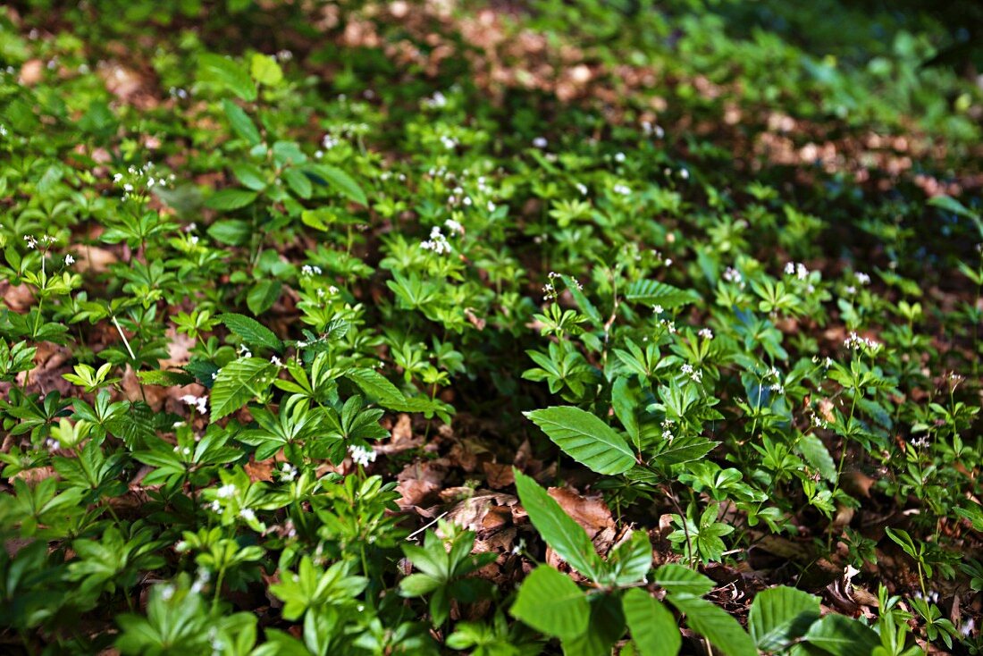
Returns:
[[[599,474],[620,474],[635,465],[635,454],[614,429],[570,405],[526,412],[557,447]]]

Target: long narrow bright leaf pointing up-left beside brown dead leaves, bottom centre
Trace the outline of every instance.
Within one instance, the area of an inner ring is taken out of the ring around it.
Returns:
[[[536,530],[570,567],[597,580],[604,569],[604,563],[594,550],[587,532],[536,481],[518,469],[513,471],[519,501],[529,513],[529,519]]]

